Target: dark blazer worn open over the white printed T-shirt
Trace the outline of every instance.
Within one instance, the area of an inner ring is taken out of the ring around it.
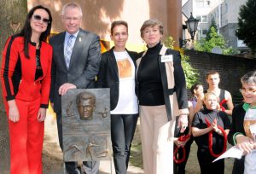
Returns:
[[[126,49],[131,56],[135,68],[137,53]],[[110,88],[110,109],[113,110],[119,99],[119,70],[113,55],[113,48],[102,54],[100,71],[97,75],[97,88]]]

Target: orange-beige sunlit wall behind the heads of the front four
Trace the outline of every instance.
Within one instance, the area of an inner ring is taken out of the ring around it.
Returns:
[[[61,8],[67,0],[28,0],[28,9],[42,4],[53,15],[52,32],[61,32]],[[82,28],[95,32],[102,40],[110,41],[110,24],[113,20],[125,20],[129,25],[127,47],[140,50],[145,48],[140,37],[144,20],[156,18],[162,21],[164,37],[172,36],[178,45],[182,37],[182,3],[180,0],[74,0],[83,9]]]

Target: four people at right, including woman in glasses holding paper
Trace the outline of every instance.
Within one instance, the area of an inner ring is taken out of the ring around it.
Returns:
[[[253,129],[256,124],[256,71],[248,72],[241,78],[243,101],[236,107],[230,92],[218,88],[219,82],[218,72],[212,71],[207,73],[209,89],[206,94],[202,84],[194,84],[191,88],[189,113],[192,113],[192,117],[189,117],[189,127],[185,131],[189,138],[184,141],[176,138],[174,141],[178,148],[174,157],[185,155],[183,161],[177,161],[174,165],[174,173],[185,173],[190,146],[194,140],[198,146],[197,158],[201,174],[224,174],[224,159],[214,163],[212,161],[225,152],[227,142],[243,152],[241,159],[235,159],[232,174],[256,171],[253,159],[256,148],[256,131]],[[183,135],[176,133],[176,136]]]

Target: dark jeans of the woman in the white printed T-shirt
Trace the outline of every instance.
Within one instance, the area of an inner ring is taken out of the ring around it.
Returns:
[[[138,114],[112,114],[111,140],[113,163],[117,174],[126,174]]]

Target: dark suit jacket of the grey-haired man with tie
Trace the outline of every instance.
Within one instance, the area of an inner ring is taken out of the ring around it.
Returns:
[[[50,102],[54,102],[55,113],[61,112],[61,96],[58,93],[60,86],[71,83],[78,89],[94,88],[101,61],[100,38],[92,32],[80,29],[67,69],[64,58],[65,34],[66,32],[61,32],[49,39],[49,44],[53,47]]]

